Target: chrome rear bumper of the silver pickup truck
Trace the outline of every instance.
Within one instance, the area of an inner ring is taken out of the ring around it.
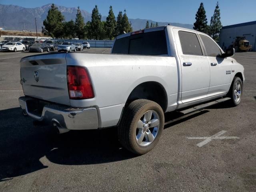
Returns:
[[[56,124],[58,127],[70,130],[98,129],[98,113],[96,108],[69,108],[58,104],[45,104],[42,112],[31,112],[28,102],[38,99],[28,96],[20,97],[19,104],[25,114],[46,124]]]

